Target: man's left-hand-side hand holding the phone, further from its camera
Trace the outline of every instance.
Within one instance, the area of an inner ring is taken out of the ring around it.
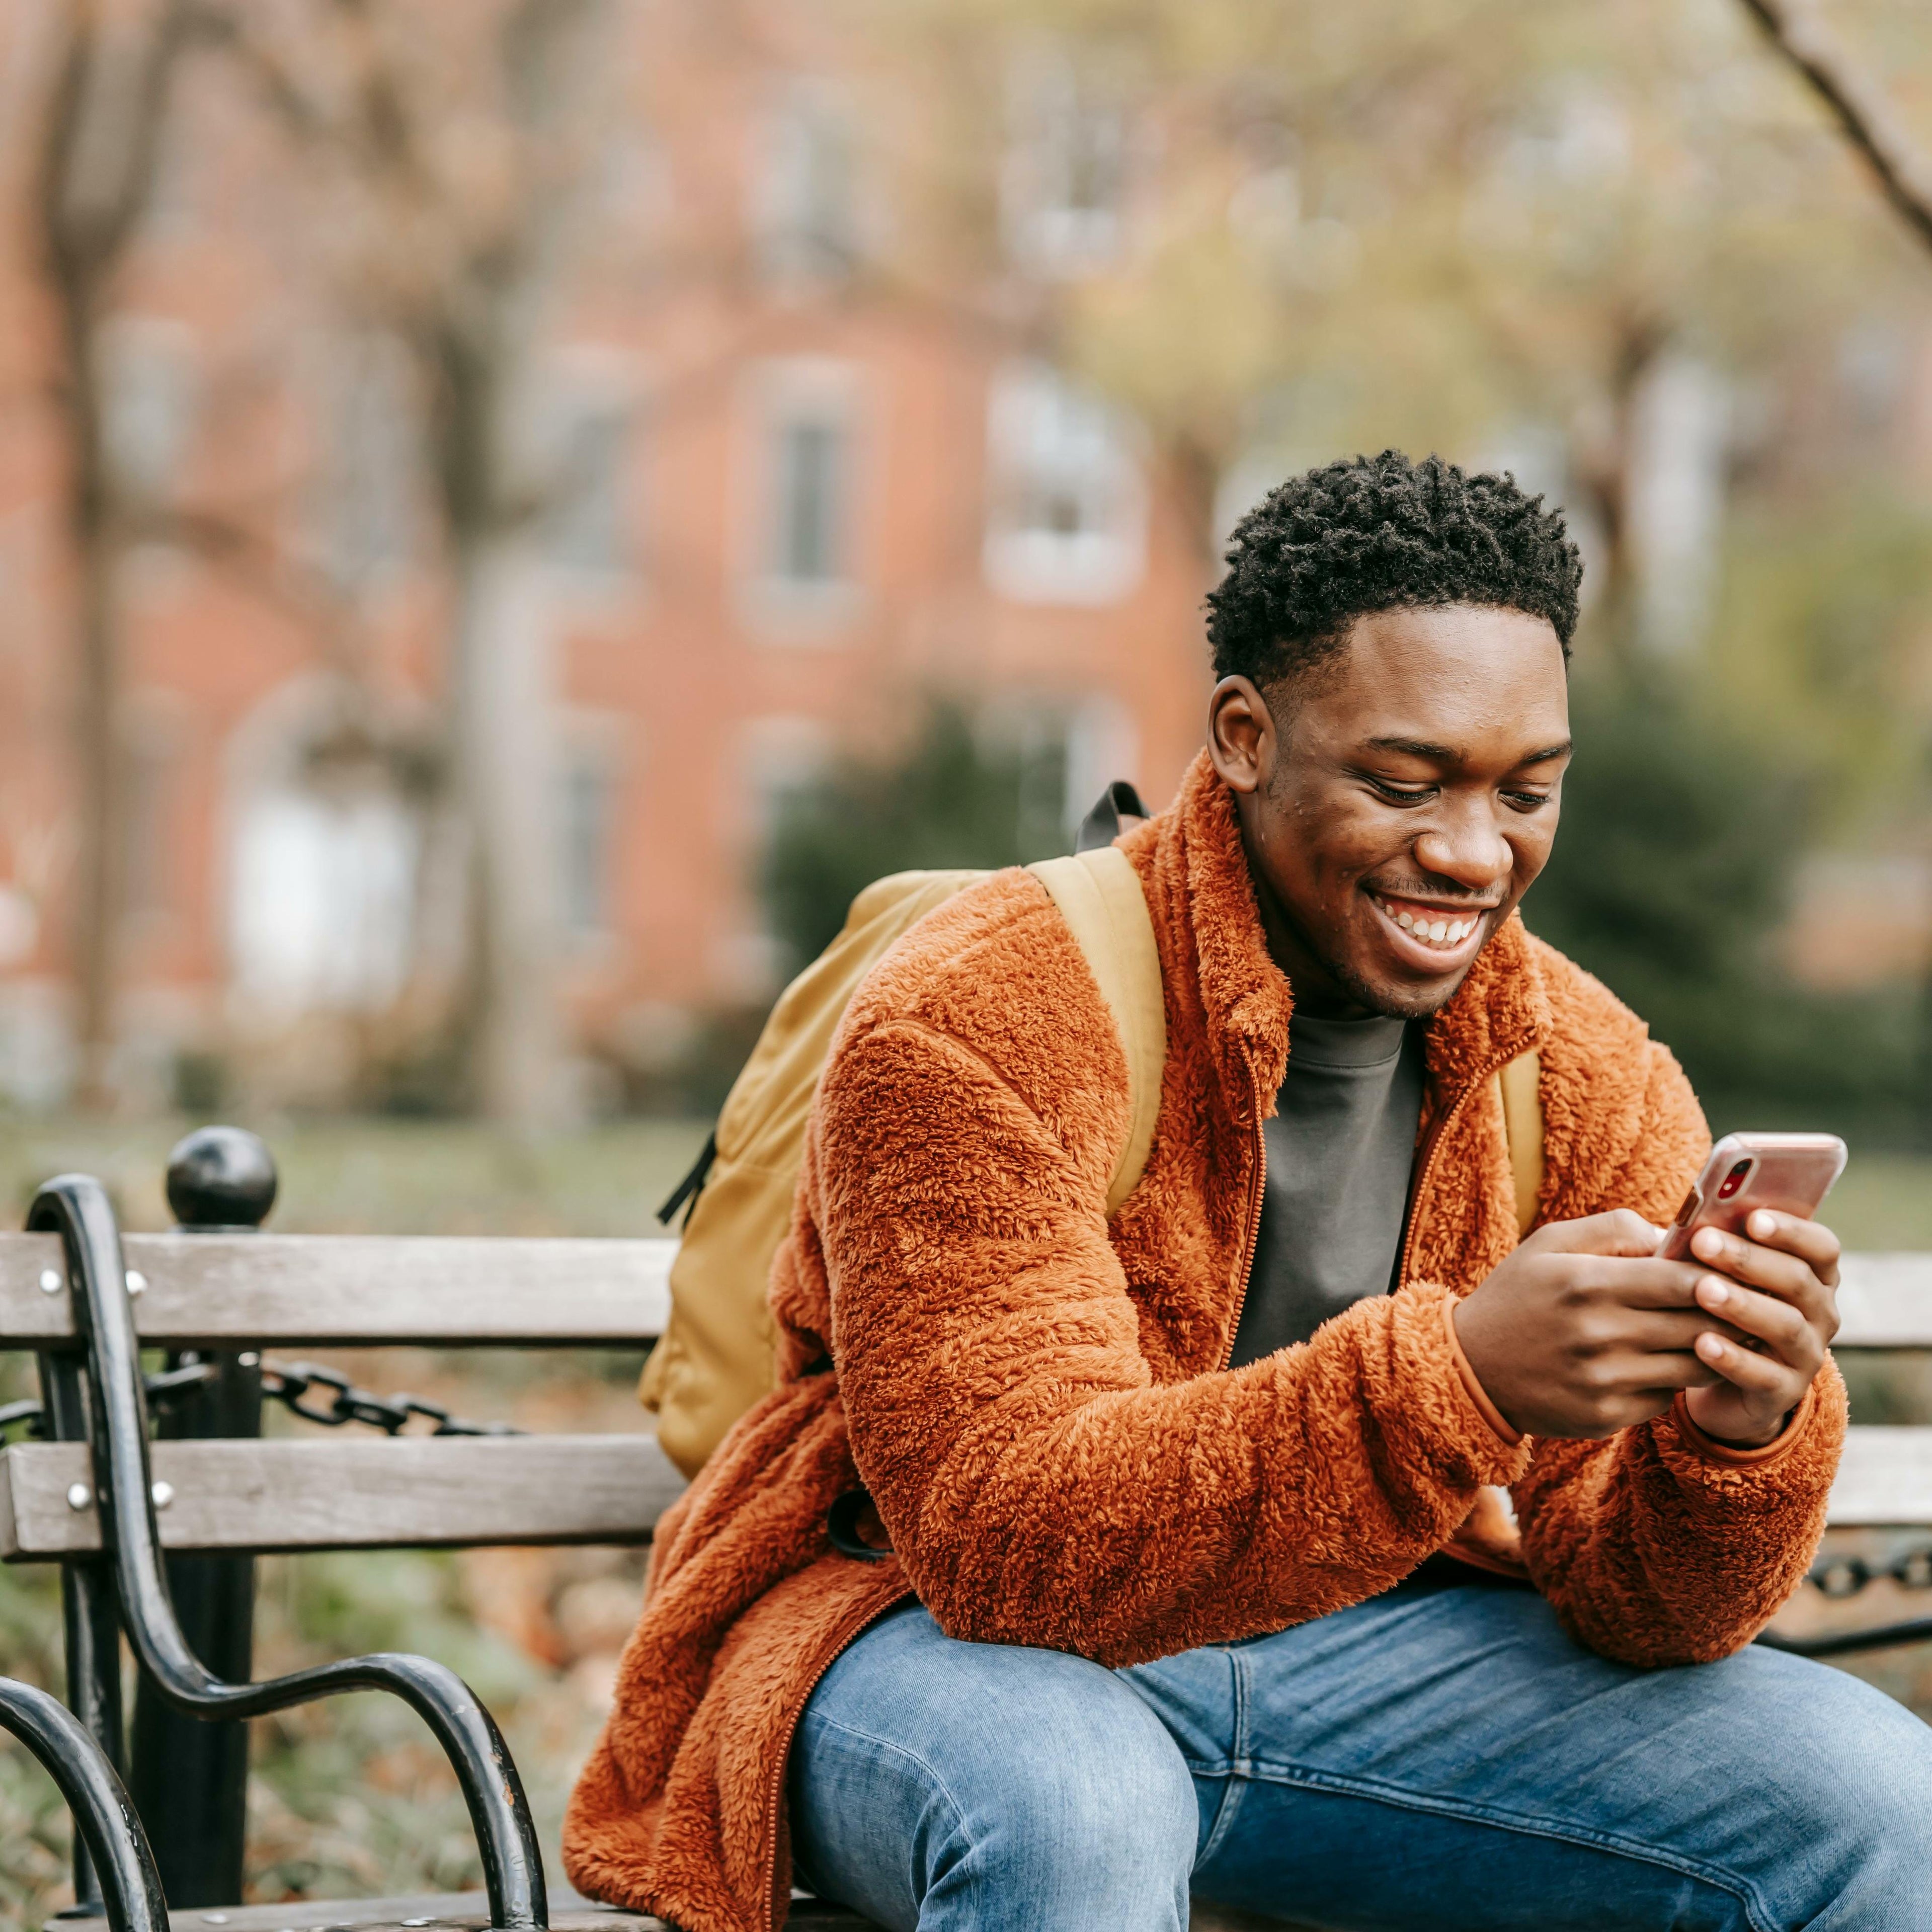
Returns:
[[[1615,1435],[1718,1381],[1694,1352],[1716,1331],[1698,1262],[1660,1262],[1663,1229],[1619,1208],[1540,1227],[1455,1308],[1457,1341],[1524,1435]]]

